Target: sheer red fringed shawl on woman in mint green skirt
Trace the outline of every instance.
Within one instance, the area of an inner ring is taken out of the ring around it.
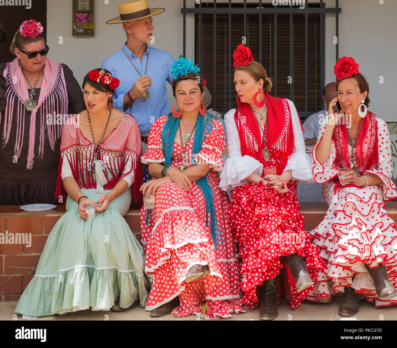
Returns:
[[[84,137],[77,125],[77,118],[73,115],[67,119],[67,124],[62,130],[61,156],[58,170],[58,180],[55,197],[66,203],[67,193],[62,184],[62,164],[68,160],[74,179],[80,188],[96,189],[91,171],[87,170],[88,164],[94,160],[96,146]],[[141,207],[142,195],[139,188],[143,183],[141,171],[142,143],[137,121],[130,114],[126,114],[112,133],[102,142],[99,151],[99,160],[105,165],[104,174],[108,183],[104,190],[113,189],[114,186],[127,175],[134,173],[132,184],[131,206]],[[131,169],[124,171],[129,164]]]

